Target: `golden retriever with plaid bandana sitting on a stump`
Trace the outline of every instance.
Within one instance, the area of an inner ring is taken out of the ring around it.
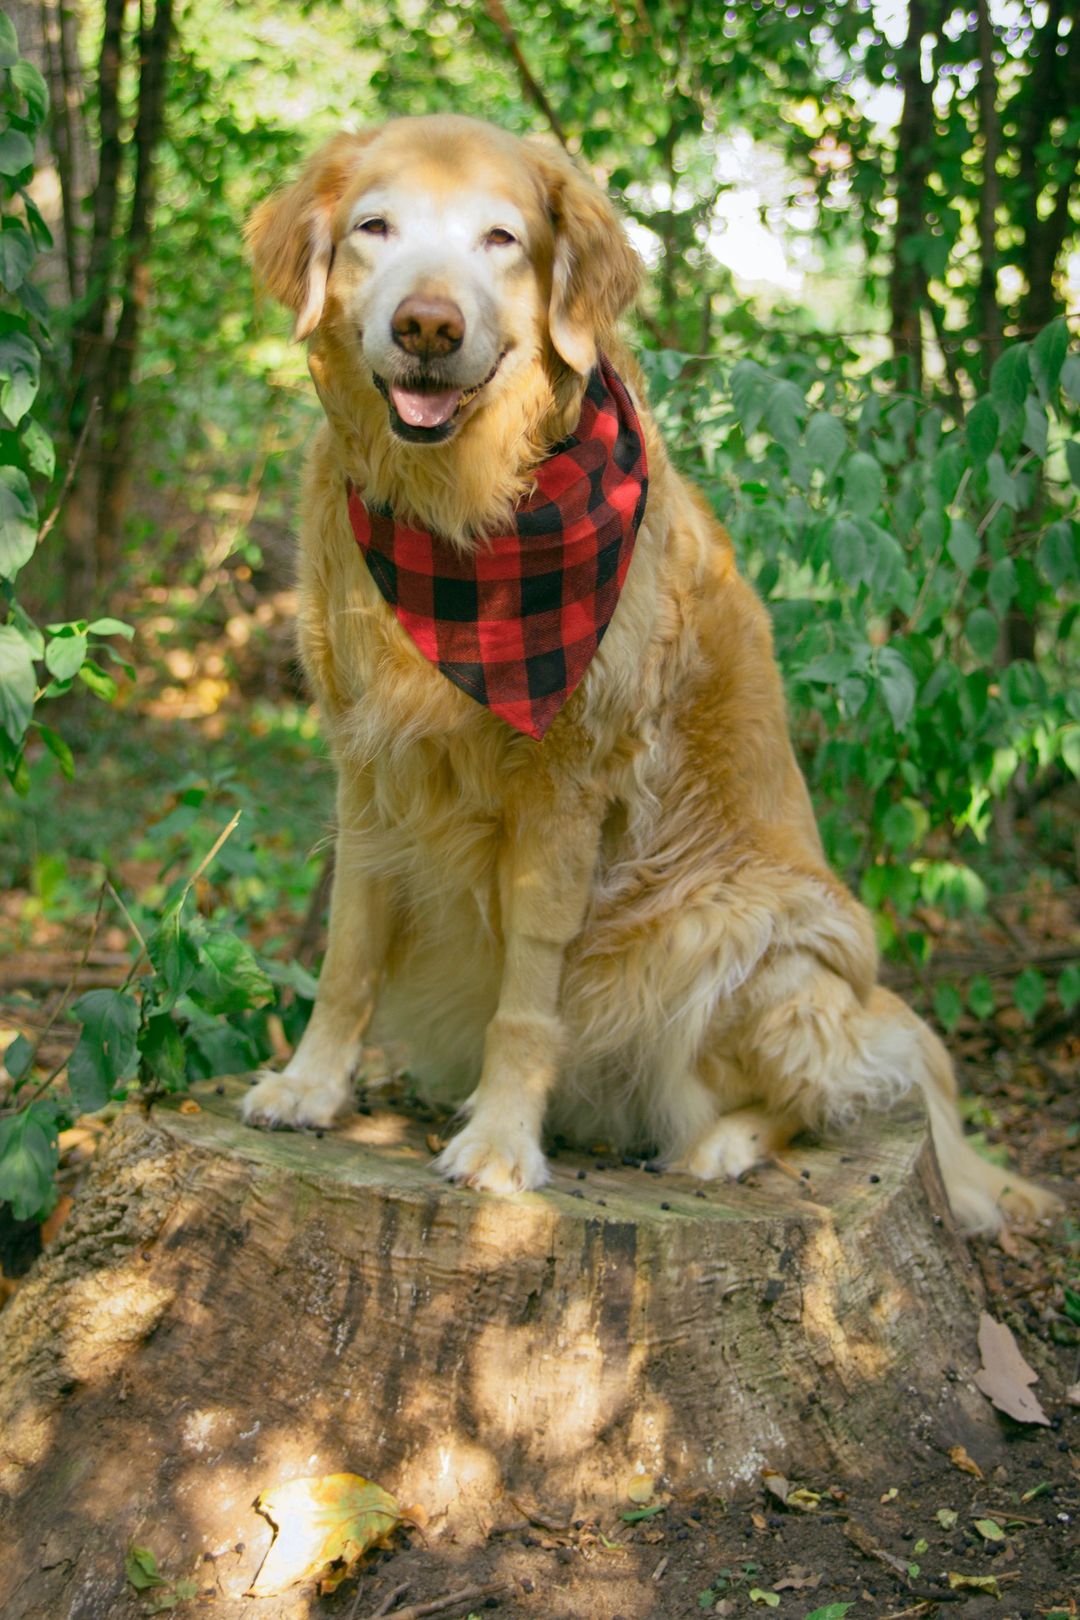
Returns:
[[[617,335],[640,262],[602,191],[541,141],[400,118],[248,240],[325,411],[300,645],[338,831],[311,1022],[244,1118],[330,1124],[371,1030],[461,1108],[439,1171],[513,1194],[544,1129],[737,1178],[916,1084],[965,1228],[1048,1212],[876,983],[767,614]]]

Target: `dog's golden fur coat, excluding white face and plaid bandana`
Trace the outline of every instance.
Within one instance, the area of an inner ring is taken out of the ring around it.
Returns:
[[[358,347],[376,259],[347,233],[372,186],[447,219],[479,191],[525,220],[510,269],[483,269],[510,374],[445,444],[395,437]],[[544,1124],[737,1176],[915,1082],[959,1218],[1044,1212],[1049,1194],[963,1142],[944,1048],[876,987],[870,917],[824,862],[792,753],[767,616],[615,337],[638,266],[606,198],[544,146],[466,118],[397,120],[332,141],[249,240],[311,339],[327,416],[303,492],[300,633],[338,765],[338,859],[309,1030],[248,1118],[332,1119],[374,1017],[432,1094],[466,1103],[440,1168],[478,1187],[541,1184]],[[536,744],[405,635],[345,481],[481,543],[576,421],[597,343],[644,426],[648,510],[607,637]]]

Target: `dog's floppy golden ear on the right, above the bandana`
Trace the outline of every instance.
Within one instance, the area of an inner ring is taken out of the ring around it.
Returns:
[[[641,261],[599,186],[560,149],[526,144],[555,232],[547,314],[551,340],[572,371],[586,376],[596,364],[597,340],[612,330],[638,292]]]

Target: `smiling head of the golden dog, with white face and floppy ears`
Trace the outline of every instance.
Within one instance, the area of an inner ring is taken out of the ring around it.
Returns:
[[[452,439],[538,360],[586,376],[638,285],[570,159],[473,118],[337,136],[248,238],[296,337],[329,335],[411,444]]]

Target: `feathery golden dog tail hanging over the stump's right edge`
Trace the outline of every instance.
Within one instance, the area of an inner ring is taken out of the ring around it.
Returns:
[[[874,990],[873,1011],[907,1025],[913,1050],[913,1079],[923,1089],[941,1179],[952,1213],[965,1231],[997,1231],[1007,1215],[1038,1220],[1052,1215],[1061,1199],[1012,1170],[981,1158],[963,1136],[957,1111],[952,1059],[934,1032],[899,996]]]

